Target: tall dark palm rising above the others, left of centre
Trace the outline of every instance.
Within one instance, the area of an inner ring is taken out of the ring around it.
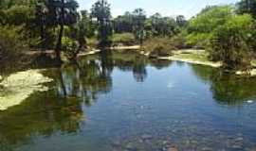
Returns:
[[[100,46],[104,46],[112,33],[110,5],[106,0],[98,0],[91,8],[91,16],[97,19]]]

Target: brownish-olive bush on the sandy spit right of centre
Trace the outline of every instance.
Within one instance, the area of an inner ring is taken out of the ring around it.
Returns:
[[[172,55],[176,49],[170,38],[152,38],[143,43],[142,49],[150,54],[150,57],[166,57]]]

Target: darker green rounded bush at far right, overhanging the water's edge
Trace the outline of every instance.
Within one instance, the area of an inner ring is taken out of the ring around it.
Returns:
[[[251,31],[255,22],[250,15],[237,15],[217,27],[210,42],[210,58],[223,61],[226,69],[247,70],[252,47]]]

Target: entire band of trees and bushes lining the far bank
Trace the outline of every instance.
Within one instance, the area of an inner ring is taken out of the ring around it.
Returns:
[[[110,4],[98,0],[78,11],[76,0],[1,0],[0,64],[19,60],[24,51],[54,50],[61,61],[93,47],[135,45],[154,56],[183,48],[202,48],[226,69],[249,69],[256,54],[256,1],[209,6],[190,20],[147,16],[142,8],[113,18]],[[172,14],[170,14],[172,15]],[[16,61],[18,62],[18,61]]]

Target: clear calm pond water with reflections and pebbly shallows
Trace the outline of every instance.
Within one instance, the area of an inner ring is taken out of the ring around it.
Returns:
[[[50,68],[0,112],[2,151],[256,150],[256,79],[132,54]]]

